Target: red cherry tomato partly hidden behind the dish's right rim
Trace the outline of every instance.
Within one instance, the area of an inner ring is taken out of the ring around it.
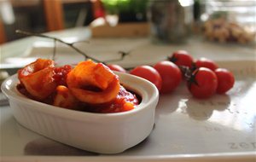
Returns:
[[[139,66],[135,67],[130,72],[132,75],[136,75],[141,78],[145,78],[151,83],[153,83],[158,90],[161,89],[162,86],[162,78],[160,77],[160,73],[157,72],[154,67],[150,66]]]

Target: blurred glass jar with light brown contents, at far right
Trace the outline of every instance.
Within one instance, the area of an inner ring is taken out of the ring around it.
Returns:
[[[254,43],[256,36],[256,1],[208,0],[204,36],[220,43]]]

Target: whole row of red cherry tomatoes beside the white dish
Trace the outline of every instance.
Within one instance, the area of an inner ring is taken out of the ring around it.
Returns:
[[[126,72],[119,65],[108,65],[114,71]],[[154,66],[138,66],[131,74],[148,79],[161,94],[171,93],[185,80],[189,92],[196,98],[208,98],[215,93],[224,94],[235,84],[232,72],[220,68],[207,58],[194,58],[185,50],[177,50]]]

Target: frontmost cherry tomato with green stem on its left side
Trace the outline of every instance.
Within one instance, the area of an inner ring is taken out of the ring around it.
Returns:
[[[192,73],[188,86],[190,93],[196,98],[208,98],[216,92],[218,78],[209,68],[200,67]]]

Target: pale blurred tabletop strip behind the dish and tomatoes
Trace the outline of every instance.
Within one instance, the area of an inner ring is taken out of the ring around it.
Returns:
[[[89,43],[81,42],[75,46],[86,55],[100,61],[119,59],[119,51],[131,52],[123,61],[108,62],[119,64],[125,68],[145,64],[153,65],[156,61],[165,60],[167,55],[172,55],[172,52],[178,49],[189,51],[195,59],[207,57],[214,61],[247,61],[252,58],[256,60],[254,46],[209,43],[203,42],[199,38],[191,38],[188,43],[177,45],[152,44],[148,38],[93,38]],[[0,69],[20,68],[37,58],[52,59],[53,53],[54,43],[37,41],[22,54],[9,57],[8,52],[3,52]],[[56,45],[55,58],[60,65],[77,64],[79,61],[84,61],[83,55],[79,55],[74,49],[61,43]]]

